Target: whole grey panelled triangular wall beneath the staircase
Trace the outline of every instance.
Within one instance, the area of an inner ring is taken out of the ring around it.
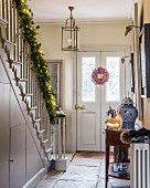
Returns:
[[[21,188],[44,168],[29,126],[0,60],[0,188]]]

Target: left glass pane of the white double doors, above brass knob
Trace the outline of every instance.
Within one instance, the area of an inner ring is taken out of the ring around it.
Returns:
[[[82,59],[82,101],[95,102],[95,85],[92,82],[92,72],[95,69],[95,58]]]

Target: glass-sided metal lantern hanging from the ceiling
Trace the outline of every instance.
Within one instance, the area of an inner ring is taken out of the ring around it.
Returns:
[[[79,51],[78,49],[78,31],[73,18],[74,7],[68,7],[71,11],[69,18],[66,20],[65,27],[62,27],[62,51]]]

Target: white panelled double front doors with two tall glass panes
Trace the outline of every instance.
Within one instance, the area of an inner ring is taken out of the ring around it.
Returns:
[[[77,58],[77,150],[105,150],[105,121],[109,106],[117,109],[126,95],[125,51],[79,52]],[[92,82],[95,67],[105,67],[109,81],[104,85]],[[129,71],[128,71],[129,74]]]

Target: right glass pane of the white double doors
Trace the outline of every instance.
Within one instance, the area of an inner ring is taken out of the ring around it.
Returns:
[[[106,88],[106,101],[120,101],[120,69],[119,58],[106,58],[106,66],[109,72],[109,80]]]

